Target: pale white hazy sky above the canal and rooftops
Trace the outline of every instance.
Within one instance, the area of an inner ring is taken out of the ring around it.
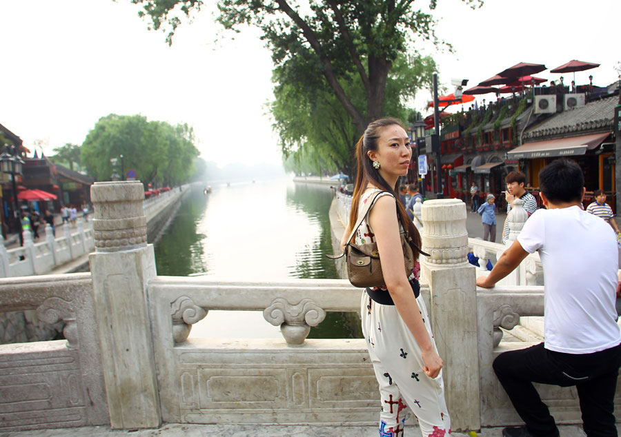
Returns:
[[[476,85],[521,61],[602,64],[576,73],[579,84],[589,74],[595,85],[618,77],[620,0],[486,0],[475,11],[460,0],[438,3],[437,34],[455,53],[420,50],[433,54],[447,87],[452,77]],[[208,161],[279,163],[265,106],[273,98],[272,63],[259,32],[224,32],[215,43],[220,28],[205,7],[168,47],[138,11],[129,0],[0,0],[0,123],[31,150],[46,141],[52,154],[64,143],[81,144],[101,116],[139,113],[193,125]],[[569,84],[573,75],[564,77]],[[418,109],[428,99],[422,91]]]

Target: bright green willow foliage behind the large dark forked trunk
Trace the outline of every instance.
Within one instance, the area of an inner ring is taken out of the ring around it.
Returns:
[[[400,55],[386,81],[386,113],[406,121],[407,102],[431,83],[435,63],[430,57]],[[279,132],[284,167],[296,173],[343,172],[353,174],[354,145],[359,134],[351,117],[331,89],[304,57],[288,60],[275,69],[275,101],[271,105]],[[364,101],[364,87],[352,75],[345,82],[355,101]]]

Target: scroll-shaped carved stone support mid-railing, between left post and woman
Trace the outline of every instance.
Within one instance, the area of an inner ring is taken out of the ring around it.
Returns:
[[[264,310],[263,316],[272,325],[280,325],[288,345],[301,345],[311,332],[311,326],[319,325],[326,318],[326,312],[309,298],[302,299],[296,305],[284,298],[276,298]]]

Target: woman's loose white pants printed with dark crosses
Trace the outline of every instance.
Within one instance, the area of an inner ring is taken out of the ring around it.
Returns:
[[[416,301],[431,336],[422,296]],[[368,354],[380,384],[380,437],[403,436],[408,410],[418,419],[423,437],[451,434],[451,418],[444,401],[442,372],[437,378],[429,378],[423,372],[420,347],[395,306],[380,305],[364,292],[360,312]],[[433,336],[431,341],[435,348]]]

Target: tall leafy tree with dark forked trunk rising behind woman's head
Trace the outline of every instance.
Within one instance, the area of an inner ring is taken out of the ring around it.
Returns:
[[[131,0],[144,6],[141,15],[153,28],[168,31],[166,40],[181,23],[179,14],[190,16],[201,0]],[[462,0],[472,8],[482,0]],[[437,0],[430,0],[435,8]],[[416,39],[440,43],[435,21],[415,6],[414,0],[219,0],[219,21],[239,31],[244,25],[263,32],[279,66],[288,59],[313,55],[335,98],[351,117],[358,134],[369,121],[384,115],[388,74],[400,53],[413,48]],[[364,99],[348,92],[346,81],[357,75]]]

